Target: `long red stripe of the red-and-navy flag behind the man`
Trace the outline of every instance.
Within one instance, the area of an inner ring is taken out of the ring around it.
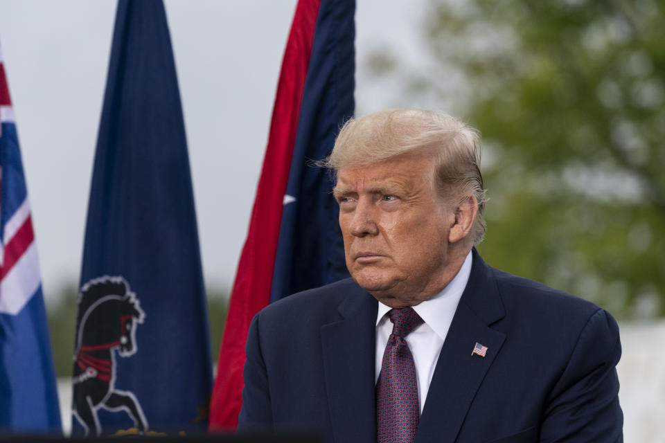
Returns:
[[[320,0],[298,1],[284,51],[263,169],[224,326],[218,374],[210,404],[211,431],[238,426],[249,323],[270,301],[283,199],[319,5]]]

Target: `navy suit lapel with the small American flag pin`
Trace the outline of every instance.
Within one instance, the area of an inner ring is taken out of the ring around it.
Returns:
[[[503,316],[503,304],[490,268],[474,249],[469,282],[429,384],[416,442],[454,442],[506,338],[488,327]],[[485,357],[472,354],[476,342],[488,348]]]

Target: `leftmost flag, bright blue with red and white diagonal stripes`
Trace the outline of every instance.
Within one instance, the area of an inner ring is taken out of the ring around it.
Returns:
[[[26,179],[0,52],[0,433],[61,433]]]

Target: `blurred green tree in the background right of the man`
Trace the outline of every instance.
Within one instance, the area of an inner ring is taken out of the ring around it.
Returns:
[[[483,134],[485,259],[665,314],[665,1],[432,0],[424,17],[438,69],[409,94]]]

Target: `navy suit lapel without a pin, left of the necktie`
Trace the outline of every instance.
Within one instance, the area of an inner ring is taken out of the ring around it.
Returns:
[[[375,431],[376,300],[360,287],[339,305],[342,320],[321,327],[323,370],[335,442],[372,442]]]

